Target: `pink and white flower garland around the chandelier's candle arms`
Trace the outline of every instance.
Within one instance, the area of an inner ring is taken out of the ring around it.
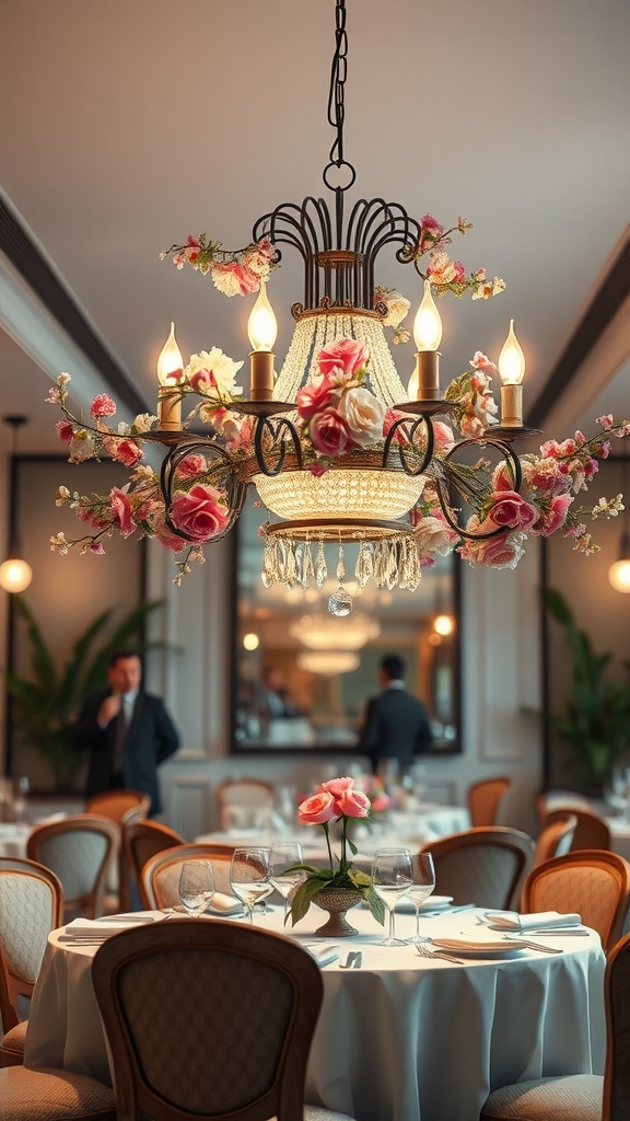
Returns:
[[[237,460],[253,454],[252,418],[230,411],[230,405],[239,399],[234,378],[241,365],[217,348],[202,351],[193,354],[178,385],[182,397],[194,393],[200,398],[184,426],[197,415],[212,423],[222,446]],[[400,414],[386,409],[368,388],[368,367],[369,355],[361,342],[339,340],[319,352],[318,377],[298,391],[296,405],[305,463],[314,474],[327,471],[337,456],[382,447],[389,429],[399,419]],[[494,419],[497,406],[490,382],[495,370],[478,351],[471,368],[446,390],[446,400],[457,405],[456,420],[464,435],[481,436]],[[132,470],[129,482],[112,488],[109,495],[80,494],[61,487],[57,506],[68,504],[92,532],[70,541],[63,532],[56,534],[50,547],[65,554],[80,545],[82,553],[102,554],[104,537],[113,531],[128,537],[138,530],[142,536],[156,537],[176,554],[185,553],[177,563],[175,577],[175,583],[180,583],[192,559],[203,562],[204,543],[223,534],[229,524],[223,462],[217,464],[211,454],[206,456],[198,451],[184,456],[176,470],[173,503],[167,511],[158,475],[141,462],[142,435],[155,427],[157,418],[141,414],[131,425],[120,424],[113,429],[105,420],[115,414],[115,404],[106,393],[100,393],[91,407],[93,423],[85,423],[70,411],[68,382],[68,374],[61,374],[48,400],[59,405],[64,413],[57,432],[68,447],[70,461],[81,463],[108,455]],[[612,416],[603,416],[597,424],[601,430],[590,438],[577,432],[574,439],[563,443],[547,441],[539,455],[524,455],[520,493],[513,491],[504,463],[493,471],[487,469],[488,485],[466,529],[483,534],[503,530],[492,537],[463,540],[448,525],[439,504],[435,466],[429,465],[423,495],[409,513],[420,565],[432,567],[437,556],[456,548],[471,565],[513,567],[522,556],[527,537],[548,537],[557,530],[572,538],[574,548],[585,555],[596,552],[599,546],[593,543],[584,519],[615,517],[624,509],[622,495],[611,500],[600,498],[590,509],[575,507],[575,495],[587,489],[599,470],[599,461],[608,457],[611,437],[630,435],[628,420],[615,423]],[[455,445],[453,429],[435,420],[434,434],[434,456],[441,464]],[[405,439],[400,429],[397,437]],[[484,466],[479,463],[475,474],[482,473]]]

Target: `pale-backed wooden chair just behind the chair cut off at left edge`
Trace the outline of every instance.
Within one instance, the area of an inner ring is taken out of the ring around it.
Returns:
[[[37,825],[27,841],[27,856],[52,869],[64,889],[65,920],[103,914],[108,873],[119,831],[115,822],[95,814],[72,814]]]

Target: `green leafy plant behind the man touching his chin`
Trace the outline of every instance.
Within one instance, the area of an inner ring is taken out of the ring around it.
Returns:
[[[135,649],[164,646],[163,642],[140,641],[147,615],[161,606],[161,601],[141,603],[115,624],[115,609],[102,611],[78,636],[63,666],[46,643],[26,600],[15,596],[13,604],[26,623],[30,676],[3,671],[7,692],[12,697],[12,725],[22,742],[49,767],[54,789],[72,790],[85,762],[85,753],[72,745],[71,725],[84,697],[105,684],[108,663],[114,650],[129,646]],[[100,645],[95,647],[99,639]]]

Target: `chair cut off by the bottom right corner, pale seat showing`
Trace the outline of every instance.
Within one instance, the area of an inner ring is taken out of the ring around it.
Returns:
[[[605,972],[606,1060],[603,1075],[528,1078],[494,1090],[480,1121],[624,1121],[630,1102],[630,934],[611,951]]]

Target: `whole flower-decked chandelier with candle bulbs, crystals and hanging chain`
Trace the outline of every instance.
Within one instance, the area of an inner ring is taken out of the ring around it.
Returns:
[[[108,495],[59,488],[57,504],[74,509],[90,532],[70,541],[63,532],[55,535],[55,552],[80,545],[83,553],[103,553],[111,532],[127,537],[138,530],[176,554],[179,584],[191,560],[204,559],[204,544],[232,529],[252,484],[269,515],[259,530],[263,584],[322,589],[332,545],[339,586],[328,609],[346,615],[352,610],[344,587],[349,543],[360,587],[373,580],[378,587],[413,590],[424,567],[454,549],[471,565],[515,567],[528,536],[562,530],[575,548],[592,553],[597,546],[583,519],[623,510],[621,494],[600,499],[590,510],[576,508],[574,499],[608,456],[610,436],[627,436],[630,421],[601,417],[600,432],[589,439],[576,433],[564,443],[548,441],[539,455],[515,453],[512,442],[534,429],[522,423],[525,360],[512,322],[498,367],[478,351],[470,369],[442,393],[442,324],[434,294],[484,300],[506,286],[498,277],[489,280],[483,268],[466,272],[451,258],[452,234],[472,229],[465,219],[445,229],[429,214],[417,221],[399,203],[382,198],[361,198],[346,215],[355,170],[343,145],[345,0],[336,0],[335,18],[328,99],[335,140],[323,172],[333,206],[314,196],[281,203],[256,222],[252,241],[242,250],[225,250],[202,234],[161,254],[179,269],[189,265],[210,275],[226,296],[258,293],[249,318],[249,398],[235,386],[243,363],[217,348],[193,354],[184,365],[173,324],[158,360],[157,417],[141,415],[114,429],[108,418],[115,404],[101,393],[86,421],[71,410],[70,377],[61,374],[48,399],[64,413],[57,429],[71,461],[109,455],[130,467],[131,476]],[[267,282],[284,245],[302,258],[304,298],[291,308],[294,335],[276,374],[277,324]],[[407,342],[409,332],[400,324],[410,305],[374,280],[386,248],[424,281],[407,389],[385,328],[393,330],[395,343]],[[494,374],[502,381],[499,419]],[[182,420],[189,396],[196,404]],[[192,428],[200,423],[207,426],[202,434]],[[462,434],[458,442],[453,426]],[[146,443],[166,448],[159,474],[141,462]]]

